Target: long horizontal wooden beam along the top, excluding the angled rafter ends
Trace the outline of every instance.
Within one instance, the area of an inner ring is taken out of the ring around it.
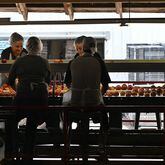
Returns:
[[[120,2],[116,2],[120,3]],[[116,9],[115,3],[74,3],[75,12],[118,12],[121,13],[121,7]],[[17,12],[16,5],[13,4],[0,4],[0,12]],[[43,4],[26,4],[28,12],[65,12],[63,3],[43,3]],[[21,10],[21,9],[19,9]],[[68,10],[68,9],[67,9]],[[164,3],[122,3],[122,13],[134,12],[134,13],[164,13]],[[21,13],[21,12],[20,12]],[[71,13],[71,12],[70,12]],[[72,14],[70,14],[71,16]]]

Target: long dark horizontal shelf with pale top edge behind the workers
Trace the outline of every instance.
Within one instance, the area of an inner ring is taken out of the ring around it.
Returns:
[[[65,72],[69,60],[49,60],[52,73]],[[0,62],[0,72],[9,72],[12,60]],[[108,72],[165,72],[165,60],[105,60]]]

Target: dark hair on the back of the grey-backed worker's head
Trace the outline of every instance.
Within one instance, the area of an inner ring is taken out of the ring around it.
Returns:
[[[83,51],[92,52],[97,47],[97,42],[93,37],[85,37],[83,40]]]

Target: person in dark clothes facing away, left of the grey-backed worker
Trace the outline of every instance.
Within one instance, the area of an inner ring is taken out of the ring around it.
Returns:
[[[48,105],[47,84],[50,82],[50,66],[46,59],[39,56],[42,50],[42,42],[39,38],[30,37],[27,41],[27,50],[28,55],[17,58],[12,65],[8,84],[14,86],[18,78],[15,97],[16,121],[27,117],[23,159],[31,160],[37,125],[45,120],[44,110],[47,110]],[[22,114],[22,110],[26,111],[26,114]]]

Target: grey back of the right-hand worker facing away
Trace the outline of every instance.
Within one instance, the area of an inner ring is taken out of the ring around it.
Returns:
[[[101,67],[89,54],[76,58],[71,64],[73,105],[100,104]]]

